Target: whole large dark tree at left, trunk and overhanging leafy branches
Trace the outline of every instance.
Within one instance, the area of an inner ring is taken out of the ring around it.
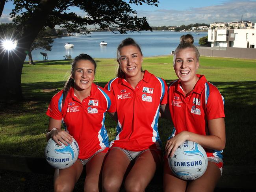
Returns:
[[[88,25],[97,28],[118,27],[119,33],[126,31],[151,30],[145,17],[137,17],[129,4],[157,6],[157,0],[13,0],[11,12],[13,22],[22,26],[16,30],[18,44],[15,53],[9,54],[0,48],[0,86],[4,94],[0,100],[21,100],[21,72],[24,60],[38,33],[46,26],[58,25],[69,32],[87,31]],[[80,9],[81,15],[70,11]],[[11,55],[11,58],[9,58]]]

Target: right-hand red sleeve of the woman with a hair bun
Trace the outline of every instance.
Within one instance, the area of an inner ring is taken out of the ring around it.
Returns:
[[[211,90],[208,98],[206,98],[206,115],[208,120],[225,117],[224,98],[219,90],[216,87],[214,88]]]

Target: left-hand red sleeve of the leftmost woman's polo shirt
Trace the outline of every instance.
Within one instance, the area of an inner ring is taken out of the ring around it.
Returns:
[[[61,102],[62,100],[60,100],[60,98],[58,97],[59,93],[56,94],[49,106],[48,106],[48,110],[46,111],[46,115],[48,115],[51,118],[54,118],[56,120],[62,120],[62,113],[61,113]]]

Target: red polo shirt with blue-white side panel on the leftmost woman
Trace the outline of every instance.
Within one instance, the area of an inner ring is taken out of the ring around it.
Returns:
[[[62,107],[63,90],[51,100],[46,114],[62,120],[65,131],[72,135],[79,145],[79,159],[88,159],[96,151],[109,147],[108,134],[104,125],[106,111],[115,112],[113,94],[102,87],[91,86],[90,95],[82,102],[71,87]]]

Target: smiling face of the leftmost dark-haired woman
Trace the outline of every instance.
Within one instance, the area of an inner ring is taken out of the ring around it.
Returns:
[[[95,66],[89,60],[78,60],[74,67],[72,79],[74,79],[74,88],[76,90],[85,90],[91,88],[94,80]]]

